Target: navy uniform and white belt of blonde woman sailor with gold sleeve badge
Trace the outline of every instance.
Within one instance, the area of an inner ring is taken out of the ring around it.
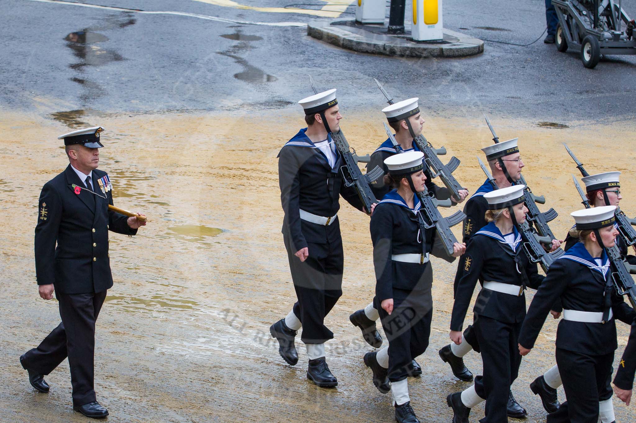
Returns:
[[[474,233],[462,255],[462,276],[453,304],[450,329],[460,331],[480,280],[483,287],[473,308],[473,329],[483,361],[483,376],[475,378],[476,393],[486,398],[483,423],[508,420],[508,392],[521,363],[517,337],[525,317],[524,290],[536,289],[543,280],[537,264],[523,252],[516,228],[513,234],[513,242],[508,244],[492,222]]]

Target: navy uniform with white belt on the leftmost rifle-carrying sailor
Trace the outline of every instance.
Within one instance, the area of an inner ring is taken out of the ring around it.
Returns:
[[[324,318],[342,296],[339,198],[342,195],[358,210],[363,204],[355,188],[342,181],[342,156],[331,142],[331,134],[328,142],[336,157],[333,166],[305,135],[306,130],[301,129],[278,155],[280,201],[285,213],[282,234],[298,297],[293,311],[302,323],[301,340],[322,344],[333,339]],[[294,253],[305,247],[309,256],[301,262]]]

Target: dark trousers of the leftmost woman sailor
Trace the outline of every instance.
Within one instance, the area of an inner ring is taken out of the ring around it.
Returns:
[[[431,268],[431,266],[427,266]],[[433,311],[431,291],[393,289],[391,315],[375,304],[380,313],[382,329],[389,341],[389,381],[399,382],[408,377],[413,358],[421,355],[429,346]]]

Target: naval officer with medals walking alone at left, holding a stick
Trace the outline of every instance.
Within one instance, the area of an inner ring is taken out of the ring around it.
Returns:
[[[108,210],[112,185],[107,173],[97,170],[102,131],[95,126],[58,137],[64,138],[69,166],[42,188],[35,258],[39,296],[52,299],[55,290],[62,323],[38,348],[20,356],[29,382],[43,393],[49,390],[44,376],[68,357],[73,409],[96,418],[108,415],[93,389],[95,320],[113,286],[108,231],[135,235],[146,225]]]

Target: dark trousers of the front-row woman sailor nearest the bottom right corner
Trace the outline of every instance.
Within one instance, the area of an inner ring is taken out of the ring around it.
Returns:
[[[597,422],[598,401],[607,389],[613,361],[614,351],[588,355],[556,348],[556,364],[567,401],[555,413],[548,414],[548,423]]]

